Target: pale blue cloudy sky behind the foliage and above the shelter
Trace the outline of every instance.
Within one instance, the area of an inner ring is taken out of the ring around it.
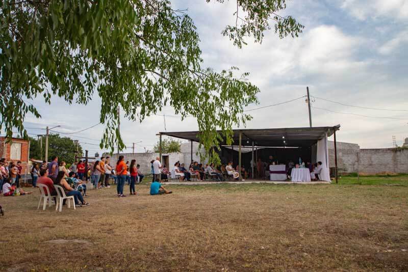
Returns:
[[[249,42],[242,49],[220,34],[225,25],[235,23],[235,3],[178,0],[173,6],[187,8],[194,19],[205,66],[215,70],[238,66],[250,73],[249,80],[261,92],[260,104],[248,109],[301,97],[309,86],[314,97],[313,125],[340,124],[339,141],[382,148],[392,146],[393,135],[398,145],[408,137],[408,0],[293,0],[283,15],[293,15],[305,25],[299,38],[279,39],[270,31],[262,44]],[[42,133],[32,128],[46,125],[61,125],[59,131],[72,132],[99,122],[98,97],[86,106],[67,105],[58,98],[52,106],[40,100],[35,105],[42,119],[27,118],[29,133]],[[171,108],[162,113],[174,114]],[[253,120],[247,128],[309,126],[304,99],[251,114]],[[179,118],[166,118],[167,131],[196,128],[192,118],[183,123]],[[72,138],[91,152],[98,151],[96,144],[103,129],[99,125]],[[149,117],[141,124],[121,121],[126,145],[141,141],[136,152],[152,149],[158,141],[156,133],[164,130],[162,116]]]

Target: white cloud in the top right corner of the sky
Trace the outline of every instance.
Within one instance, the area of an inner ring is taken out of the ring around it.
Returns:
[[[343,0],[341,7],[359,20],[368,17],[408,19],[407,0]]]

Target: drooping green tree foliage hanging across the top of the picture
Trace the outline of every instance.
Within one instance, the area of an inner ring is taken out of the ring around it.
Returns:
[[[8,137],[13,127],[27,137],[25,115],[40,117],[32,99],[86,104],[97,92],[106,124],[101,148],[124,147],[118,107],[142,121],[171,105],[182,119],[197,120],[210,150],[216,129],[231,141],[232,126],[250,119],[243,108],[257,102],[247,73],[201,67],[196,27],[170,0],[0,0],[0,7],[0,129]],[[275,20],[279,36],[297,36],[303,26],[277,15],[285,8],[285,0],[238,0],[236,23],[223,34],[237,46],[247,36],[261,42]]]

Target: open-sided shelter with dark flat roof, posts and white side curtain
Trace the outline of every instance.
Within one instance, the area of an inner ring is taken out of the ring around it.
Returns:
[[[285,160],[290,156],[302,156],[303,161],[321,161],[323,166],[322,180],[330,181],[327,137],[334,134],[335,168],[337,170],[336,131],[339,129],[340,125],[325,127],[234,129],[234,143],[231,149],[238,149],[238,165],[240,167],[242,165],[241,151],[243,148],[245,148],[246,151],[248,151],[248,148],[251,148],[250,159],[252,161],[257,160],[257,150],[259,149],[272,150],[269,152],[281,157],[282,162],[286,162]],[[159,132],[160,143],[162,135],[189,140],[191,142],[199,142],[199,133],[199,131]],[[226,146],[226,140],[221,141],[220,145]],[[191,148],[191,153],[192,152],[193,150]],[[253,174],[253,164],[251,167]],[[335,173],[337,181],[337,171],[335,171]]]

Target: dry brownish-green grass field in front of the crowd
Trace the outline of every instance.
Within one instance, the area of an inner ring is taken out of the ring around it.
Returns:
[[[37,210],[37,190],[0,197],[0,270],[408,270],[408,178],[347,179],[173,185],[165,196],[142,184],[120,199],[112,187],[61,213]]]

